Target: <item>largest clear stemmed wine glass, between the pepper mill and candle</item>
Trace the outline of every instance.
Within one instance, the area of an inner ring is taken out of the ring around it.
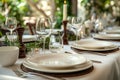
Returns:
[[[36,23],[36,34],[43,39],[43,52],[45,53],[46,38],[51,35],[51,21],[49,18],[38,18]]]

